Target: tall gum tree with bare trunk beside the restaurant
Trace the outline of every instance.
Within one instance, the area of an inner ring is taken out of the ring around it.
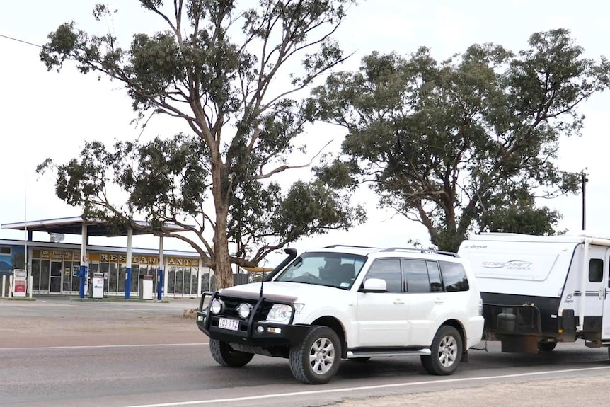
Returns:
[[[301,101],[291,96],[343,62],[332,35],[353,3],[186,0],[166,7],[140,0],[167,30],[136,33],[128,47],[111,33],[60,25],[40,52],[47,69],[74,61],[84,74],[105,74],[125,86],[137,117],[175,117],[192,133],[121,141],[111,150],[88,142],[79,159],[57,167],[45,161],[39,170],[56,168],[57,195],[88,216],[125,224],[144,214],[153,224],[174,222],[194,232],[195,240],[173,236],[202,253],[221,287],[231,285],[231,263],[256,265],[301,236],[362,221],[360,208],[316,180],[285,192],[270,180],[295,167],[288,163],[292,152],[306,151],[295,142],[304,132]],[[98,5],[93,17],[114,12]],[[302,74],[294,74],[294,59]],[[275,86],[282,78],[292,86]],[[125,202],[110,199],[111,185],[127,192]],[[234,256],[229,240],[238,247]]]

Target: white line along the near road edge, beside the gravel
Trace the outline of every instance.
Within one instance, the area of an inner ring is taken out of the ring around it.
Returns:
[[[408,383],[395,383],[395,384],[377,384],[376,386],[359,386],[359,387],[347,387],[344,389],[328,389],[328,390],[310,390],[310,391],[294,391],[292,393],[278,393],[278,394],[263,394],[260,396],[244,396],[234,397],[232,399],[214,399],[214,400],[193,400],[193,401],[175,401],[173,403],[156,403],[156,404],[137,404],[134,406],[126,407],[172,407],[172,406],[193,406],[195,404],[217,404],[217,403],[228,403],[231,401],[251,401],[261,399],[277,399],[280,397],[293,397],[293,396],[308,396],[310,394],[330,394],[330,393],[346,393],[350,391],[362,391],[362,390],[374,390],[374,389],[390,389],[393,387],[406,387],[406,386],[420,386],[424,384],[444,384],[444,383],[457,383],[457,382],[478,382],[480,380],[488,379],[510,379],[514,377],[528,377],[528,376],[540,376],[543,374],[558,374],[568,372],[586,372],[589,370],[602,370],[610,369],[610,366],[603,367],[583,367],[580,369],[565,369],[565,370],[548,370],[546,372],[529,372],[529,373],[516,373],[516,374],[502,374],[500,376],[484,376],[484,377],[463,377],[461,379],[438,379],[438,380],[425,380],[423,382],[408,382]]]

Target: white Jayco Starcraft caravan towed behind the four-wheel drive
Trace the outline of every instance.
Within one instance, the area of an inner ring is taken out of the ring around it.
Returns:
[[[484,339],[501,340],[502,352],[610,346],[610,239],[485,233],[458,253],[483,299]]]

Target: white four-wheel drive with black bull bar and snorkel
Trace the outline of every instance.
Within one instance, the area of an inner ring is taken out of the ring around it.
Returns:
[[[451,374],[481,340],[480,294],[455,253],[286,251],[265,282],[202,295],[197,326],[220,365],[241,367],[255,354],[285,357],[295,378],[323,384],[343,359],[420,355],[430,374]]]

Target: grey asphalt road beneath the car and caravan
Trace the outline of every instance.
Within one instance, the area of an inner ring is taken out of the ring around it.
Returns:
[[[207,337],[182,316],[195,304],[0,300],[0,406],[298,407],[345,398],[350,398],[345,406],[383,406],[391,399],[370,397],[425,397],[429,391],[455,394],[489,386],[483,394],[493,398],[491,389],[507,384],[516,396],[520,385],[546,387],[557,379],[596,384],[610,373],[606,350],[582,343],[561,344],[545,355],[501,353],[490,343],[488,351],[471,350],[468,364],[451,377],[425,374],[417,357],[386,357],[343,362],[333,382],[308,386],[294,380],[282,359],[257,355],[241,369],[217,365]],[[562,387],[572,388],[560,386],[555,393]],[[351,401],[365,397],[362,403]],[[399,398],[396,406],[405,400]]]

